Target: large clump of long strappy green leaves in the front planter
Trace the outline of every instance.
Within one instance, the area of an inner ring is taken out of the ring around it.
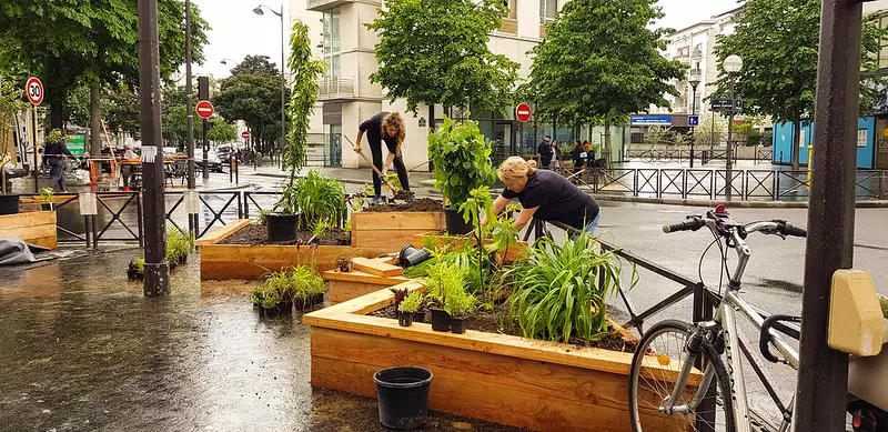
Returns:
[[[605,301],[620,289],[620,269],[614,252],[599,253],[595,243],[588,233],[564,245],[543,239],[507,271],[514,281],[507,317],[525,338],[589,342],[607,331]],[[630,280],[634,287],[635,268]]]

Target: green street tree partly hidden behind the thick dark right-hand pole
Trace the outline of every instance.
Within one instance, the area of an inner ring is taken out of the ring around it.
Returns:
[[[820,40],[821,0],[748,0],[737,28],[716,46],[719,66],[725,58],[743,58],[743,69],[724,74],[718,92],[744,101],[744,112],[770,115],[776,122],[794,122],[793,169],[798,169],[799,130],[814,115]],[[864,23],[860,66],[860,109],[875,100],[876,53],[885,31],[877,22]]]

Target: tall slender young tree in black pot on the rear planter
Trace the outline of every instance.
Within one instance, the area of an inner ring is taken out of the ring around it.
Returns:
[[[309,142],[309,121],[317,101],[317,78],[324,71],[324,62],[312,58],[309,27],[296,20],[290,36],[287,66],[293,77],[287,103],[289,130],[284,143],[282,164],[290,173],[284,181],[281,199],[272,213],[265,214],[270,241],[296,238],[297,193],[296,177],[305,165],[305,149]]]

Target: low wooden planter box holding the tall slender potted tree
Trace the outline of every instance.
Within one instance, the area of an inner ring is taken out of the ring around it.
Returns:
[[[324,272],[333,270],[336,267],[334,261],[342,254],[352,258],[374,258],[392,252],[391,248],[383,247],[218,244],[249,224],[248,220],[239,220],[214,230],[195,242],[201,252],[201,280],[259,279],[269,271],[310,264],[313,260],[317,271]]]

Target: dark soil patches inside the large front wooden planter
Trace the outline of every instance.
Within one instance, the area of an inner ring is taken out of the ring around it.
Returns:
[[[465,319],[465,328],[466,330],[475,330],[485,333],[502,333],[513,336],[523,336],[521,328],[518,328],[517,325],[512,325],[512,326],[507,325],[506,329],[500,328],[500,318],[507,309],[508,309],[507,305],[503,303],[503,304],[497,304],[491,311],[477,311]],[[395,310],[394,305],[389,305],[377,311],[373,311],[369,313],[369,315],[397,320],[397,311]],[[432,322],[431,312],[426,312],[425,318],[426,318],[425,322]],[[414,319],[414,322],[418,321]],[[623,335],[619,334],[619,332],[617,332],[613,328],[609,330],[610,330],[609,334],[605,335],[604,338],[597,341],[592,341],[588,344],[586,344],[585,342],[583,342],[577,338],[572,338],[571,344],[578,346],[601,348],[609,351],[622,351],[629,353],[635,352],[635,346],[637,345],[637,342],[627,341],[626,339],[623,338]]]

